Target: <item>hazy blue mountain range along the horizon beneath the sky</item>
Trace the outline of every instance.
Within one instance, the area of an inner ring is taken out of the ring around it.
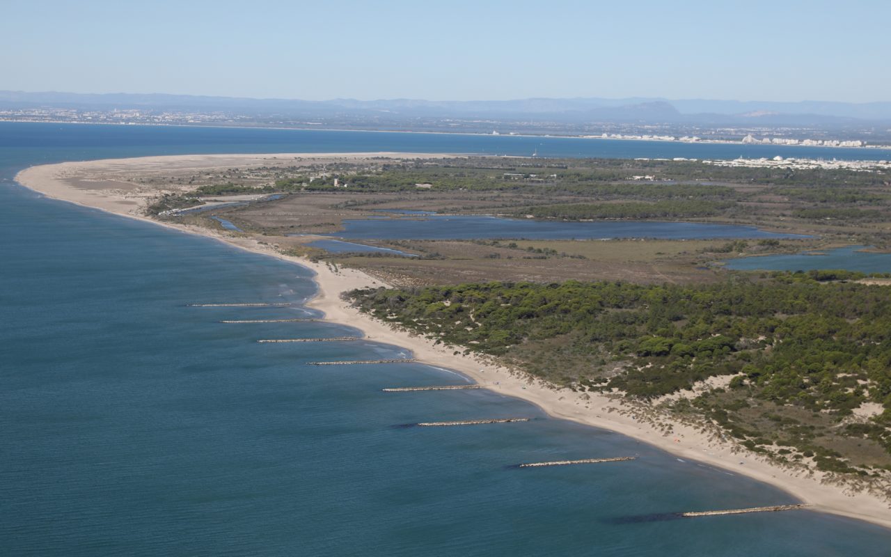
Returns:
[[[693,124],[852,125],[891,123],[891,102],[770,102],[659,98],[421,101],[392,99],[301,101],[183,94],[75,94],[0,91],[0,109],[230,112],[258,117],[386,117],[390,119],[528,119],[555,122],[664,122]]]

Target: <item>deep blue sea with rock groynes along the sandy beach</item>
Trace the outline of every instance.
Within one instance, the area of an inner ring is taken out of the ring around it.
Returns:
[[[200,130],[207,143],[194,133],[0,126],[4,554],[888,554],[891,531],[816,512],[637,521],[790,497],[488,391],[380,392],[464,381],[445,370],[307,365],[407,355],[368,341],[257,343],[356,331],[221,324],[315,315],[299,306],[315,291],[309,273],[12,183],[37,162],[227,150],[215,130]],[[280,137],[250,130],[233,150],[309,150]],[[378,144],[364,150],[392,149]],[[187,307],[257,301],[295,305]],[[499,416],[535,420],[393,427]],[[615,455],[640,458],[506,468]]]

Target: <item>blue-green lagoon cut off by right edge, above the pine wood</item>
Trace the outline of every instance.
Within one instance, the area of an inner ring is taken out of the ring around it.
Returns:
[[[891,273],[891,253],[861,251],[865,246],[848,246],[792,255],[766,255],[755,258],[727,259],[724,264],[734,271],[813,271],[846,269],[862,273]]]

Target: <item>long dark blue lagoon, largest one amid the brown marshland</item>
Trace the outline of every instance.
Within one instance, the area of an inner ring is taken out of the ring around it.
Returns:
[[[564,222],[519,218],[424,215],[420,217],[345,220],[340,232],[323,234],[351,240],[473,240],[526,238],[529,240],[590,240],[606,238],[804,238],[772,233],[754,226],[683,222],[601,220]]]

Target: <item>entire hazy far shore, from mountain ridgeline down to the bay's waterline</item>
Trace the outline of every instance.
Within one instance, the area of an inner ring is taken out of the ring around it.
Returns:
[[[0,120],[891,146],[891,102],[661,98],[301,101],[0,91]]]

